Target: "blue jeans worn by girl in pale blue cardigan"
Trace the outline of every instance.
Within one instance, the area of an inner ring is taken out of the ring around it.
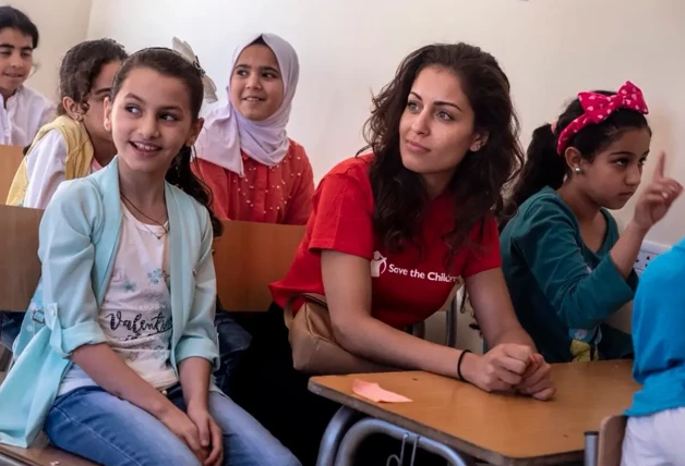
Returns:
[[[185,410],[183,395],[169,400]],[[252,416],[227,396],[209,392],[209,414],[224,431],[224,465],[296,466],[300,462]],[[58,447],[105,466],[200,465],[161,421],[99,387],[59,396],[44,427]]]

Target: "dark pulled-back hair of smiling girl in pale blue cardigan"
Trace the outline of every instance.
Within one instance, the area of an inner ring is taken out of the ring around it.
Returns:
[[[133,70],[149,69],[163,76],[180,79],[187,87],[190,97],[190,111],[193,121],[200,118],[200,109],[204,100],[204,86],[202,84],[201,71],[193,63],[185,60],[180,53],[163,47],[154,47],[140,50],[129,57],[115,75],[115,83],[111,88],[111,100],[113,101],[121,89],[123,82]],[[216,218],[212,208],[212,193],[207,186],[195,176],[192,163],[193,149],[183,146],[179,154],[171,161],[167,171],[166,181],[181,188],[185,194],[192,196],[209,211],[214,236],[220,236],[224,226]]]

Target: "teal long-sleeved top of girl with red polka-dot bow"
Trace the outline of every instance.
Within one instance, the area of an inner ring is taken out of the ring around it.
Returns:
[[[622,358],[630,336],[603,321],[633,299],[637,275],[625,280],[609,253],[618,241],[602,209],[606,234],[590,250],[573,211],[551,187],[526,200],[501,235],[502,270],[521,326],[548,363]]]

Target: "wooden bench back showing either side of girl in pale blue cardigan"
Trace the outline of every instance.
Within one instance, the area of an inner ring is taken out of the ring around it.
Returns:
[[[40,278],[38,226],[41,210],[0,206],[0,309],[23,312]],[[224,222],[214,243],[217,293],[230,311],[264,311],[268,284],[285,277],[304,226]]]

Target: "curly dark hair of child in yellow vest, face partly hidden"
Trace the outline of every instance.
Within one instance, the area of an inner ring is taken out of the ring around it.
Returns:
[[[127,57],[123,47],[112,39],[86,40],[69,49],[60,65],[60,101],[57,114],[67,114],[62,105],[64,97],[72,99],[83,113],[87,113],[93,82],[105,65],[124,61]]]

